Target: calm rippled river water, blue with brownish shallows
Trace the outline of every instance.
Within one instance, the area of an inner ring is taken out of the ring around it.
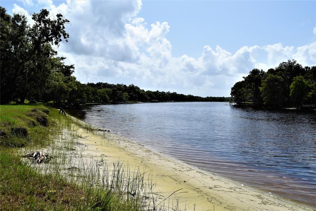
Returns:
[[[72,115],[214,174],[316,207],[316,115],[227,103],[93,105]]]

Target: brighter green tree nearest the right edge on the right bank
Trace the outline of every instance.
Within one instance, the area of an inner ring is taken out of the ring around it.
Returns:
[[[296,76],[290,86],[290,97],[296,108],[300,108],[308,94],[308,82],[303,76]]]

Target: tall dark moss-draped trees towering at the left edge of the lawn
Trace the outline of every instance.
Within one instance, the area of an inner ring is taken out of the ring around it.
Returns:
[[[50,71],[48,60],[57,54],[51,45],[68,42],[65,25],[69,21],[61,14],[52,20],[43,9],[32,15],[34,25],[30,27],[24,15],[11,17],[2,7],[0,12],[1,101],[7,101],[18,90],[23,102],[31,86],[45,83]]]

